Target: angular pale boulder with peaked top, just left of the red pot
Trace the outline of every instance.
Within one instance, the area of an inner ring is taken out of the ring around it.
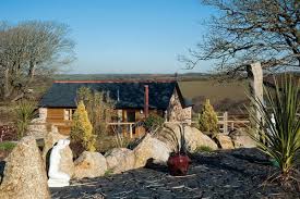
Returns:
[[[166,164],[171,151],[172,147],[170,145],[147,134],[133,149],[135,167],[145,166],[149,159],[152,159],[154,163]]]

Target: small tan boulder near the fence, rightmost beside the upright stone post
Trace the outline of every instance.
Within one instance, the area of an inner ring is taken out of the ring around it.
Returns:
[[[232,139],[235,148],[256,147],[256,142],[247,134],[244,128],[232,130],[228,136]]]

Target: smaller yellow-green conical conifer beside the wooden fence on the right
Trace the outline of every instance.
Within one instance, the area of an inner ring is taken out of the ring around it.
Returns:
[[[209,99],[206,99],[201,113],[197,116],[197,127],[203,133],[217,134],[218,117]]]

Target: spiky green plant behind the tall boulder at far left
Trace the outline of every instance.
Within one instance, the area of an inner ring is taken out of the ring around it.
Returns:
[[[22,100],[17,102],[14,114],[17,138],[21,139],[26,135],[32,120],[36,116],[36,104],[33,101]]]

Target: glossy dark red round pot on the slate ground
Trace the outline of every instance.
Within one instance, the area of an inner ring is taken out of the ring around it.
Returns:
[[[173,154],[168,159],[168,167],[171,175],[185,175],[188,173],[190,158],[185,154]]]

